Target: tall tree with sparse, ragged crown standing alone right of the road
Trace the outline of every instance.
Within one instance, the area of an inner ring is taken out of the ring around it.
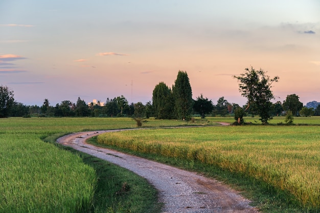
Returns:
[[[268,123],[268,120],[272,119],[271,99],[274,99],[272,91],[270,90],[273,82],[278,82],[279,77],[270,78],[266,75],[266,72],[262,69],[259,71],[253,67],[249,70],[245,69],[240,76],[234,76],[239,83],[239,91],[243,97],[248,99],[248,105],[245,111],[249,108],[253,108],[261,117],[262,123]]]

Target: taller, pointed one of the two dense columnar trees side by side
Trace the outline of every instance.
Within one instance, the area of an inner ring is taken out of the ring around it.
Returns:
[[[193,99],[187,72],[179,70],[174,86],[172,86],[172,93],[175,117],[182,120],[189,119],[192,113]]]

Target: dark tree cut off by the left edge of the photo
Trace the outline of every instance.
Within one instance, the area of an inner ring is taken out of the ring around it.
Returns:
[[[13,91],[7,86],[0,86],[0,118],[9,117],[14,104],[13,95]]]

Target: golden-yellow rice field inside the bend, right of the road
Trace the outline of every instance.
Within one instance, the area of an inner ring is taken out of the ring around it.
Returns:
[[[298,119],[302,124],[308,122],[308,118]],[[313,117],[310,121],[319,124],[320,120]],[[317,125],[248,125],[106,133],[98,136],[98,141],[214,164],[287,191],[306,209],[318,209],[319,132]]]

